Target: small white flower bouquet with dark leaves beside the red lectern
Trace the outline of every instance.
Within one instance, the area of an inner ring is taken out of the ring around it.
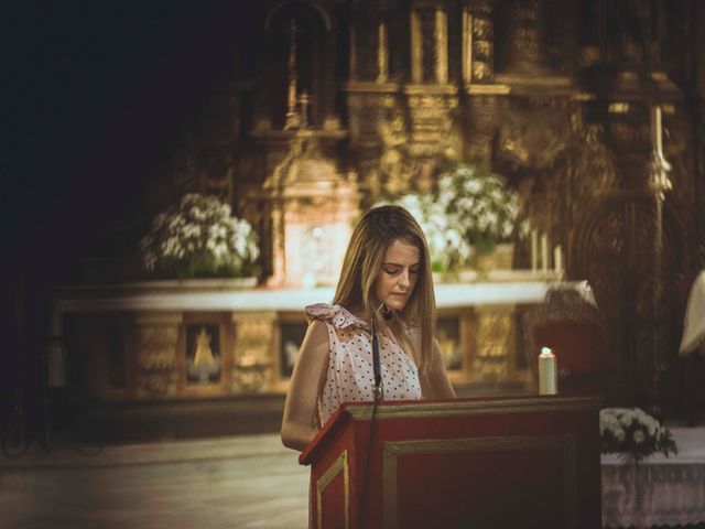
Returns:
[[[671,432],[639,408],[605,408],[599,412],[600,451],[620,453],[639,463],[655,452],[676,454]]]

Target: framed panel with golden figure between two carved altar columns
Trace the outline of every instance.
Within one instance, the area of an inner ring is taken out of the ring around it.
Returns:
[[[186,381],[208,385],[220,381],[221,354],[216,324],[186,325]]]

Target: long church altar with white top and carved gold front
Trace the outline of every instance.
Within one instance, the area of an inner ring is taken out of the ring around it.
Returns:
[[[541,272],[491,282],[441,283],[437,336],[452,382],[525,391],[530,375],[520,321],[552,287]],[[66,361],[87,397],[104,402],[284,395],[303,339],[303,307],[333,288],[242,288],[237,280],[152,281],[66,287],[54,293],[50,385]]]

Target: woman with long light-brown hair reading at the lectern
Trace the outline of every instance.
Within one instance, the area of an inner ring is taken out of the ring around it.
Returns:
[[[384,401],[455,398],[434,336],[429,248],[404,208],[365,214],[352,231],[333,305],[310,305],[305,314],[310,325],[284,406],[285,446],[303,451],[343,402],[373,400],[371,317]]]

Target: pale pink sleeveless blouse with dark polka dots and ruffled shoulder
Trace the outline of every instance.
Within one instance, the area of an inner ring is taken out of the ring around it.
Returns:
[[[306,320],[321,320],[328,328],[328,369],[318,397],[323,427],[344,402],[371,402],[372,345],[369,324],[340,305],[318,303],[304,310]],[[383,400],[420,400],[421,384],[413,359],[379,332]]]

